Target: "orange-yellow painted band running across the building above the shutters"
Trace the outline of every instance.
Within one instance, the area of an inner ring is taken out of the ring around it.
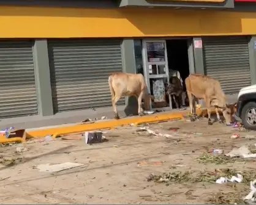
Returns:
[[[0,25],[0,38],[252,35],[256,13],[2,6]]]

